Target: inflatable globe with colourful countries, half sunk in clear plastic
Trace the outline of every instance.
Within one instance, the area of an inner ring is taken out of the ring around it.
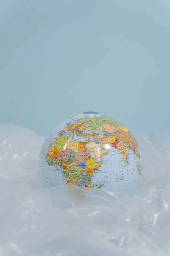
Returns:
[[[138,186],[142,158],[123,124],[90,111],[65,119],[47,136],[39,174],[46,188],[67,184],[119,191]]]

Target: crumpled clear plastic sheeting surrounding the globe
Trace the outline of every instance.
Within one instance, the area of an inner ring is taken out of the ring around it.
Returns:
[[[170,255],[170,133],[154,142],[137,131],[143,157],[138,188],[105,192],[44,189],[44,137],[0,126],[0,256]]]

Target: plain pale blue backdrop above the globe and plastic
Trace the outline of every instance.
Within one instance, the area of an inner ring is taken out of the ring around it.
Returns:
[[[170,131],[169,0],[1,0],[0,123],[45,135],[84,111]]]

